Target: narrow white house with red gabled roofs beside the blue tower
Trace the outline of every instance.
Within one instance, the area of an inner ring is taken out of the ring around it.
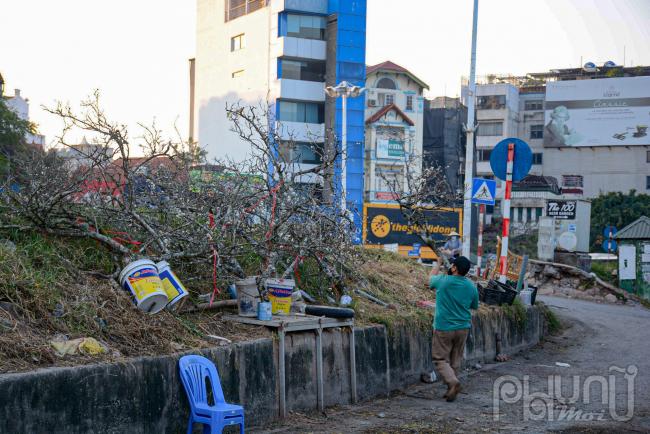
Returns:
[[[422,172],[424,97],[429,86],[387,61],[366,70],[365,200],[390,202]]]

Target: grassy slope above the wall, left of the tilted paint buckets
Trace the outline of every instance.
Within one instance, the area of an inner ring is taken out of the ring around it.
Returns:
[[[117,283],[72,271],[72,266],[84,270],[91,265],[102,270],[105,258],[96,245],[39,235],[15,237],[14,241],[15,251],[0,247],[0,372],[219,345],[207,335],[233,341],[269,335],[265,329],[223,321],[223,313],[217,311],[143,314]],[[60,358],[50,341],[61,336],[93,337],[109,353]]]

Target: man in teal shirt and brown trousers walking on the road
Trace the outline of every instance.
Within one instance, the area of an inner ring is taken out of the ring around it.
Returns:
[[[465,341],[472,327],[470,309],[478,309],[478,291],[465,275],[471,263],[464,256],[452,259],[447,275],[434,266],[429,287],[436,291],[433,321],[432,355],[438,374],[447,385],[445,399],[454,401],[460,392],[458,371],[463,360]]]

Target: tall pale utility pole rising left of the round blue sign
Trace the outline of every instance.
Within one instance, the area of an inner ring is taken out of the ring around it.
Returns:
[[[474,101],[476,98],[476,29],[478,25],[478,0],[474,0],[472,25],[472,57],[469,67],[469,91],[467,100],[467,144],[465,146],[465,195],[463,204],[463,256],[470,259],[472,234],[472,178],[474,177]]]

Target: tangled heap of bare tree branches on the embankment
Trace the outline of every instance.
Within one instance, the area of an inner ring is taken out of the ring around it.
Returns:
[[[78,112],[61,103],[46,108],[63,121],[57,140],[70,151],[11,156],[0,184],[0,230],[95,240],[113,257],[105,277],[139,257],[209,270],[205,276],[214,269],[222,281],[287,275],[310,260],[329,287],[342,288],[360,255],[349,215],[322,194],[340,155],[330,144],[314,145],[327,150],[319,151],[321,162],[296,164],[295,142],[279,136],[267,108],[226,107],[251,153],[210,164],[196,145],[165,138],[155,125],[140,125],[132,138],[107,118],[97,93]],[[91,145],[70,143],[73,132],[89,135]]]

